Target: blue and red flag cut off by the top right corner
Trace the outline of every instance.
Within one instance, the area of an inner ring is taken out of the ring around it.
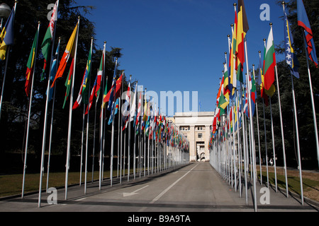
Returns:
[[[307,46],[308,58],[310,61],[313,61],[315,67],[318,67],[317,54],[315,53],[315,42],[313,41],[313,30],[310,28],[310,23],[302,0],[297,0],[297,15],[298,25],[301,26],[305,32],[305,44]]]

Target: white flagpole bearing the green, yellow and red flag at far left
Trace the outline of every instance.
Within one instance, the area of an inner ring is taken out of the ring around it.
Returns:
[[[23,182],[22,182],[22,196],[24,194],[24,184],[26,179],[26,160],[27,160],[27,153],[28,153],[28,140],[29,140],[29,129],[30,129],[30,114],[31,114],[31,106],[32,106],[32,96],[33,96],[33,81],[34,81],[34,74],[35,74],[35,63],[36,57],[38,52],[38,39],[39,39],[39,29],[40,29],[40,21],[38,22],[38,31],[37,31],[37,41],[35,46],[35,58],[34,58],[34,65],[33,65],[33,74],[32,74],[32,82],[31,82],[31,93],[30,93],[30,100],[29,100],[29,112],[28,112],[28,126],[27,126],[27,134],[26,134],[26,150],[24,153],[24,167],[23,167]]]

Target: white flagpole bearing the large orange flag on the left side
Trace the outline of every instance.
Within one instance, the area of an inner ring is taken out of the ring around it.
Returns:
[[[78,18],[77,24],[77,42],[79,40],[79,20]],[[77,62],[77,42],[75,45],[75,53],[74,53],[74,67],[73,67],[73,75],[72,75],[72,88],[71,95],[69,99],[69,128],[67,133],[67,164],[66,164],[66,172],[65,172],[65,200],[67,200],[67,181],[69,179],[69,158],[71,155],[71,129],[72,129],[72,106],[73,106],[73,94],[74,94],[74,76],[75,76],[75,66]]]

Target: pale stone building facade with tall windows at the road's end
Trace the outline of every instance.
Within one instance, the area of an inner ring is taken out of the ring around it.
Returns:
[[[189,140],[189,161],[209,161],[208,143],[214,112],[177,112],[172,122]]]

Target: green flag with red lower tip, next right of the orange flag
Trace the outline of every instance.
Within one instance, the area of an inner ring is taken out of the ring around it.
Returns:
[[[81,88],[79,90],[79,95],[77,97],[77,100],[74,102],[72,109],[77,109],[79,107],[79,105],[81,105],[82,100],[83,100],[84,104],[87,104],[89,102],[89,100],[88,100],[89,99],[88,98],[89,97],[88,83],[89,83],[89,79],[91,76],[91,54],[92,54],[92,44],[91,44],[91,49],[89,52],[89,58],[87,59],[87,62],[86,62],[86,68],[84,71]]]

